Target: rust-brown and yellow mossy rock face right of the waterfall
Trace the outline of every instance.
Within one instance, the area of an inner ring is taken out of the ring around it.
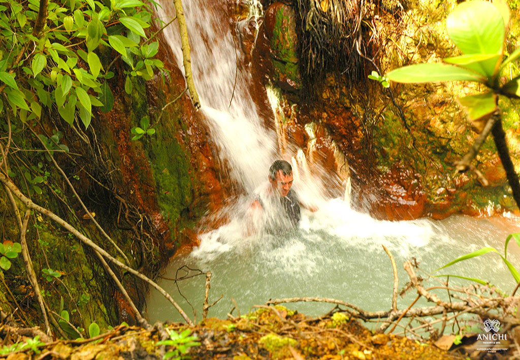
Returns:
[[[370,43],[372,36],[392,40],[384,48],[371,49],[379,54],[374,61],[383,72],[403,64],[440,61],[457,55],[444,24],[454,5],[454,1],[448,7],[407,2],[406,11],[367,5],[365,16],[372,30],[364,28],[362,39],[373,47],[378,44]],[[352,83],[345,75],[330,73],[313,85],[319,98],[303,101],[294,97],[295,91],[301,89],[302,76],[292,71],[298,63],[298,39],[293,26],[305,23],[301,21],[305,14],[298,16],[294,20],[294,10],[289,5],[279,2],[268,5],[252,65],[262,82],[270,81],[282,90],[284,105],[280,111],[284,115],[275,114],[275,118],[283,122],[279,126],[283,141],[293,138],[307,154],[313,153],[311,147],[316,144],[331,140],[341,150],[352,173],[353,203],[359,210],[388,220],[517,211],[491,139],[476,158],[476,171],[459,174],[454,169],[454,162],[462,159],[477,135],[456,100],[478,89],[459,83],[392,84],[391,95],[366,75],[366,80]],[[513,18],[516,16],[513,13]],[[512,51],[519,32],[514,20],[510,32]],[[266,54],[270,61],[266,61]],[[359,66],[365,67],[361,71],[367,75],[374,70],[368,61]],[[297,76],[292,76],[293,73]],[[518,166],[517,115],[510,104],[500,106],[504,109],[504,126],[509,126],[506,135]],[[326,134],[326,138],[316,142],[306,136],[305,126],[311,123],[323,128],[320,134]],[[287,146],[283,141],[281,149]],[[321,149],[316,153],[321,154],[317,157],[321,163],[337,170],[330,151]]]

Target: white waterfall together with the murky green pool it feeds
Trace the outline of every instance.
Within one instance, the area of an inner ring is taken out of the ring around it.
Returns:
[[[164,8],[160,16],[168,21],[175,14],[173,5],[170,2],[161,5]],[[183,5],[201,111],[207,118],[222,160],[229,165],[230,176],[243,187],[245,194],[251,194],[267,180],[272,160],[280,157],[277,155],[277,135],[275,131],[266,130],[264,120],[258,115],[249,90],[251,75],[240,66],[237,69],[235,43],[228,20],[219,15],[224,9],[218,7],[225,5],[209,0],[184,0]],[[253,4],[252,8],[252,14],[261,12],[260,5]],[[175,27],[168,27],[166,31],[179,60],[182,57]],[[181,64],[179,68],[182,68]],[[308,172],[302,154],[298,155],[297,148],[289,147],[283,158],[293,160],[294,188],[298,194],[317,204],[319,210],[314,213],[303,210],[295,233],[244,237],[241,214],[251,201],[246,195],[237,200],[235,207],[227,209],[231,214],[228,224],[199,234],[200,246],[189,254],[176,256],[168,266],[166,278],[186,275],[184,270],[177,271],[183,266],[213,274],[209,302],[213,303],[221,294],[224,297],[211,307],[209,316],[225,318],[236,305],[243,314],[254,304],[284,297],[335,298],[365,310],[387,310],[392,303],[393,274],[381,245],[386,245],[395,256],[400,286],[403,286],[408,280],[401,266],[406,259],[416,258],[424,271],[433,272],[458,256],[484,246],[495,247],[503,253],[506,236],[519,230],[518,221],[513,217],[374,220],[350,209],[348,196],[342,195],[345,190],[335,174],[319,169]],[[337,188],[337,198],[323,196],[327,188]],[[513,242],[508,259],[513,264],[520,264],[520,250]],[[515,285],[500,256],[493,253],[438,273],[482,278],[508,292]],[[469,284],[465,280],[451,281]],[[177,284],[182,295],[196,308],[199,320],[204,282],[204,276],[197,276]],[[167,279],[161,282],[161,286],[191,314],[190,305],[179,294],[177,285]],[[415,294],[409,293],[399,299],[398,306],[407,306],[413,298]],[[317,315],[329,311],[332,305],[298,303],[288,307]],[[154,290],[147,299],[147,316],[151,323],[155,320],[182,321],[171,304]]]

